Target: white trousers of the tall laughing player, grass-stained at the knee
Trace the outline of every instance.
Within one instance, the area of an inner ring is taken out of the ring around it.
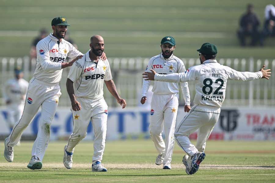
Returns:
[[[23,114],[13,126],[7,139],[7,145],[13,147],[20,140],[26,127],[35,117],[41,106],[41,118],[37,137],[32,146],[31,156],[37,156],[42,161],[50,139],[50,125],[57,109],[61,95],[58,83],[51,84],[32,78],[29,83]]]

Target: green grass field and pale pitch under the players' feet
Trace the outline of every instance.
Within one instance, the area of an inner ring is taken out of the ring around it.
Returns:
[[[73,156],[73,168],[63,165],[66,142],[50,142],[41,170],[26,166],[33,142],[16,146],[14,161],[0,156],[1,182],[274,182],[275,142],[208,141],[206,158],[193,175],[181,163],[185,154],[175,145],[172,170],[155,165],[156,150],[151,140],[108,141],[103,156],[107,172],[92,172],[92,142],[81,142]],[[3,142],[0,148],[3,150]]]

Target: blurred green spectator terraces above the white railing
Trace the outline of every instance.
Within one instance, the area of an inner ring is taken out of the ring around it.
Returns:
[[[152,57],[160,40],[174,36],[175,55],[197,58],[204,42],[218,46],[219,58],[273,59],[274,39],[265,47],[242,48],[236,36],[240,16],[253,3],[261,21],[273,0],[0,0],[0,57],[28,55],[31,41],[42,27],[52,32],[53,17],[64,16],[71,38],[85,53],[91,35],[105,38],[108,57]]]

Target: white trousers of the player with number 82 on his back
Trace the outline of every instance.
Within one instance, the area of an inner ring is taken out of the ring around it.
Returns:
[[[176,124],[176,142],[189,156],[193,156],[198,151],[204,152],[206,141],[219,119],[220,112],[220,108],[196,104],[183,120]],[[188,136],[196,130],[198,132],[195,146],[190,142]]]

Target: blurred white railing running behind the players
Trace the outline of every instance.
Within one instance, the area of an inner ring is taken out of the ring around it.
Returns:
[[[116,83],[119,94],[127,100],[128,106],[138,106],[141,98],[142,77],[141,74],[145,70],[149,58],[108,58],[112,70],[113,80]],[[275,59],[254,60],[251,59],[217,59],[219,63],[229,66],[238,71],[255,72],[266,65],[275,71]],[[197,58],[182,58],[186,69],[200,64]],[[0,87],[9,79],[14,77],[13,70],[16,66],[20,66],[24,70],[24,78],[30,80],[34,73],[36,60],[30,60],[29,57],[2,57],[0,58]],[[70,99],[66,91],[66,78],[69,68],[65,68],[60,82],[62,95],[59,100],[59,106],[70,106]],[[105,89],[105,100],[109,106],[117,106],[116,100]],[[189,83],[191,102],[195,94],[194,83]],[[182,96],[182,94],[181,94]],[[0,97],[2,90],[0,90]],[[181,104],[184,101],[181,97]],[[0,100],[0,105],[4,105],[4,101]],[[272,74],[270,80],[256,80],[250,82],[244,81],[228,81],[226,90],[226,100],[224,106],[274,106],[275,105],[275,74]]]

